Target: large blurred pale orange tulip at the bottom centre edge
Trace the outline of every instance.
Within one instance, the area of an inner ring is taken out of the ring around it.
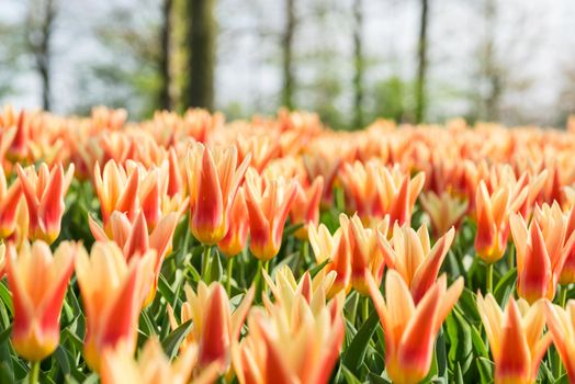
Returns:
[[[240,384],[328,382],[343,341],[343,293],[328,303],[291,298],[251,310],[248,336],[232,349]]]

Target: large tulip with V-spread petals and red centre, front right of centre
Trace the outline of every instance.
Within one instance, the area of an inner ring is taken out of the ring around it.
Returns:
[[[463,291],[463,279],[448,289],[447,278],[441,275],[417,304],[395,270],[390,270],[385,279],[386,300],[370,274],[367,282],[385,332],[387,375],[394,383],[420,382],[431,366],[441,324]]]

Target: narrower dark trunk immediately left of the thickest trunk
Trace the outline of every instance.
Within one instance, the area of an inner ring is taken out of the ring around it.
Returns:
[[[160,31],[160,57],[159,57],[159,74],[160,74],[160,89],[158,94],[158,105],[164,110],[171,110],[170,98],[170,45],[171,45],[171,12],[172,0],[164,0],[161,15],[162,24]]]

